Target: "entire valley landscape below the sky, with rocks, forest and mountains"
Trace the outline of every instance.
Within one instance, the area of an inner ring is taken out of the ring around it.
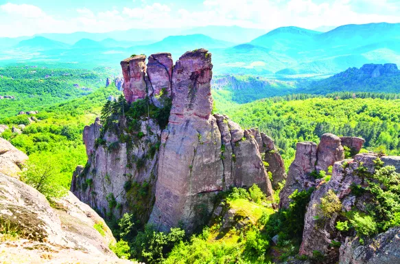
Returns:
[[[0,261],[396,263],[399,32],[0,38]]]

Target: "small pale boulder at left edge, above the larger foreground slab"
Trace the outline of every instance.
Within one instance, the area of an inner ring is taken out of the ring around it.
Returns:
[[[0,138],[0,173],[10,177],[19,177],[21,165],[28,159],[27,155],[16,149],[10,142]]]

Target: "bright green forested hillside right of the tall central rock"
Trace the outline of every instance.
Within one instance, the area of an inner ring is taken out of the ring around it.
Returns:
[[[298,95],[231,107],[226,102],[217,103],[216,107],[242,126],[257,126],[271,135],[288,161],[294,158],[296,142],[318,142],[324,133],[364,137],[366,148],[399,155],[399,97],[368,93]]]

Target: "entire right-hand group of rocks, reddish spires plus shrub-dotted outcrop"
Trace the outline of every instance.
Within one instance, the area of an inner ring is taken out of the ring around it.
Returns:
[[[285,187],[280,193],[280,208],[287,208],[290,204],[289,196],[298,190],[316,188],[311,195],[311,201],[305,214],[305,227],[303,241],[299,254],[313,256],[318,251],[327,256],[326,263],[389,263],[392,260],[399,261],[396,249],[400,243],[400,228],[392,228],[383,234],[365,241],[362,245],[353,236],[354,234],[342,234],[336,229],[336,221],[339,215],[321,219],[318,210],[320,199],[325,197],[329,190],[336,193],[342,203],[344,212],[357,208],[362,212],[365,210],[364,203],[368,203],[368,197],[362,195],[356,197],[351,194],[352,184],[362,184],[362,178],[357,174],[357,168],[364,166],[369,173],[375,172],[374,160],[378,158],[376,153],[359,153],[364,144],[360,137],[338,137],[333,134],[324,134],[320,144],[314,142],[301,142],[296,147],[296,157],[290,165]],[[351,150],[353,158],[344,159],[344,148]],[[359,153],[359,154],[357,154]],[[400,172],[400,157],[380,157],[385,166],[395,166]],[[347,164],[347,166],[344,166]],[[325,183],[324,179],[316,179],[312,173],[327,171],[332,166],[330,181]],[[333,247],[333,241],[342,243],[339,248]],[[381,243],[376,243],[381,241]]]

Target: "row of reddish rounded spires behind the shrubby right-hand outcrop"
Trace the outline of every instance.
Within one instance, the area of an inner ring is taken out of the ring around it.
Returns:
[[[296,157],[289,167],[285,187],[281,190],[279,207],[287,208],[289,196],[294,190],[299,192],[315,187],[317,180],[311,173],[327,172],[329,166],[344,159],[344,146],[349,146],[353,154],[357,154],[365,141],[360,137],[338,137],[324,134],[318,146],[314,142],[302,142],[296,146]]]

